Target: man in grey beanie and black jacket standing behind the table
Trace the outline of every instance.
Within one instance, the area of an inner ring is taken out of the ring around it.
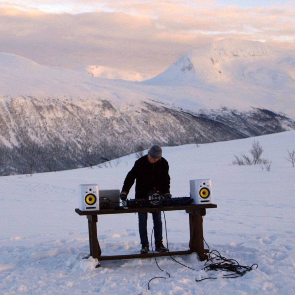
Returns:
[[[168,170],[169,165],[168,162],[162,158],[161,147],[153,145],[148,151],[148,154],[135,161],[133,168],[128,172],[120,194],[121,200],[126,200],[135,179],[135,199],[148,199],[148,193],[152,190],[160,191],[165,198],[171,198]],[[166,252],[167,248],[163,245],[161,212],[152,212],[152,214],[155,250]],[[140,253],[148,253],[149,251],[147,220],[148,212],[138,213],[138,227],[141,243]]]

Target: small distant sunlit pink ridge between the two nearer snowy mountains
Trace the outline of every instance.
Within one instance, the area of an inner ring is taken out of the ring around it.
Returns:
[[[88,75],[104,79],[121,79],[139,82],[152,78],[151,75],[148,74],[137,73],[134,71],[124,71],[117,68],[105,67],[103,65],[86,65],[76,68],[76,71],[81,71]]]

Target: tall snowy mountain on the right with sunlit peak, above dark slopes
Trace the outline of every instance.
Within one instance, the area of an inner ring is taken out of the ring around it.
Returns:
[[[144,85],[192,91],[191,97],[162,99],[173,106],[262,107],[295,118],[295,52],[266,43],[225,39],[192,49]],[[173,87],[173,88],[172,88]],[[156,90],[155,90],[156,91]]]

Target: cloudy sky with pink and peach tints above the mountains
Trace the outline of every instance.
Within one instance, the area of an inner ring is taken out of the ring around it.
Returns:
[[[224,38],[295,50],[295,4],[234,0],[0,1],[0,52],[43,65],[158,74]]]

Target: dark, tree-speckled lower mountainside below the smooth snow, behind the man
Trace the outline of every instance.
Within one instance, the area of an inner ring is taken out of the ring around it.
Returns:
[[[0,101],[0,175],[97,165],[147,149],[233,140],[295,129],[266,109],[193,114],[139,101],[117,107],[99,98],[23,96]]]

